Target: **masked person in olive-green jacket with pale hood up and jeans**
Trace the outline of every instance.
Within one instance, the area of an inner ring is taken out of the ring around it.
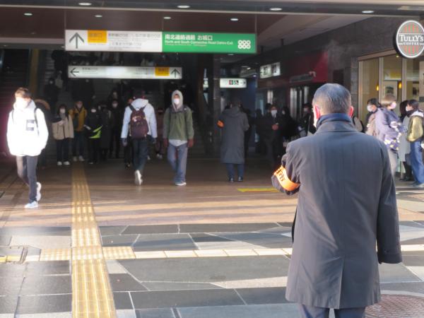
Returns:
[[[176,186],[186,185],[187,155],[194,146],[192,110],[184,105],[182,93],[172,92],[172,105],[163,117],[163,143],[167,147],[167,159],[175,172]]]

